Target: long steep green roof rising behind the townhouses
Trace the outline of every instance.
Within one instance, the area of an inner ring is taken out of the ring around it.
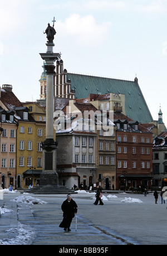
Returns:
[[[153,121],[148,105],[137,83],[137,78],[134,81],[126,81],[72,73],[68,73],[67,78],[71,80],[71,89],[75,89],[77,99],[87,98],[90,93],[125,94],[127,117],[137,120],[139,123]]]

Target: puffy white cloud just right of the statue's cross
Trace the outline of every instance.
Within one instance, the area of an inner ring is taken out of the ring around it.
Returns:
[[[102,44],[111,31],[111,22],[96,23],[92,15],[81,17],[73,14],[65,22],[57,21],[56,28],[61,36],[73,37],[80,45]]]

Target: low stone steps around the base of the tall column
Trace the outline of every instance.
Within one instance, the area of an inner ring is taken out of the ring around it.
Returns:
[[[74,190],[66,186],[34,186],[31,189],[25,189],[21,193],[30,194],[75,194]]]

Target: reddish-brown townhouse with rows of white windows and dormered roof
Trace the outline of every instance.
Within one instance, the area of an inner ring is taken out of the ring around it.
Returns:
[[[116,189],[151,189],[152,136],[143,125],[114,113],[116,130]]]

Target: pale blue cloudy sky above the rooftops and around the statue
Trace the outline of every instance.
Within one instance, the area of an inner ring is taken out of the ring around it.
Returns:
[[[133,81],[167,125],[167,0],[0,0],[0,86],[40,99],[48,23],[69,73]]]

